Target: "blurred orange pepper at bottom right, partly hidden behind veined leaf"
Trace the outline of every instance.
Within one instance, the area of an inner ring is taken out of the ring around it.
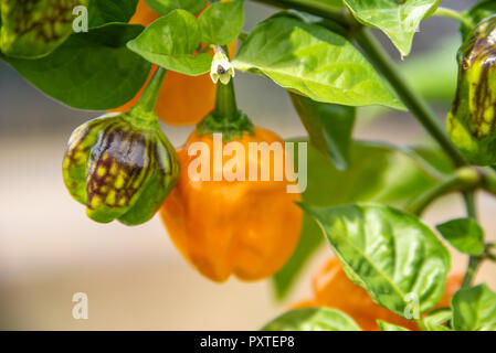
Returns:
[[[436,308],[450,307],[451,297],[462,285],[463,276],[450,275],[445,292]],[[313,288],[315,299],[296,303],[293,308],[329,307],[350,315],[365,331],[378,331],[377,320],[397,324],[412,331],[418,331],[416,324],[401,318],[392,311],[373,302],[367,291],[355,285],[342,270],[341,264],[335,257],[327,261],[314,276]]]

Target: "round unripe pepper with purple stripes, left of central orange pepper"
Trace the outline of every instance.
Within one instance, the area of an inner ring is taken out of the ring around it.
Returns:
[[[65,185],[96,222],[147,222],[179,178],[176,150],[158,122],[137,124],[131,114],[87,121],[68,141]]]

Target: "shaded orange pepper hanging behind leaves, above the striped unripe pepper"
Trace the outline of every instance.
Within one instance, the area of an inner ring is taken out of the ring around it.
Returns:
[[[148,7],[146,0],[139,0],[136,13],[129,23],[148,25],[159,17]],[[234,50],[235,43],[230,44],[229,51],[231,54],[234,53]],[[154,65],[144,87],[131,100],[109,111],[128,111],[138,103],[144,88],[156,69],[157,65]],[[215,85],[209,74],[193,77],[169,71],[163,79],[155,113],[160,120],[170,125],[196,125],[213,109],[214,104]]]

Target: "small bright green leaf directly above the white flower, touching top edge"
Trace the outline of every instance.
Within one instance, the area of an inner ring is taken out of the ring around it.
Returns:
[[[215,2],[198,19],[201,41],[207,44],[228,45],[240,35],[244,24],[244,0]]]

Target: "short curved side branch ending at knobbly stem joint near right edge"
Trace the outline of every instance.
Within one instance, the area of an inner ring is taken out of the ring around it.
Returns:
[[[435,185],[431,190],[421,194],[410,205],[407,206],[407,211],[420,216],[425,208],[439,197],[453,193],[453,192],[468,192],[475,189],[481,183],[479,173],[473,168],[458,169],[453,175],[448,176],[445,181]]]

